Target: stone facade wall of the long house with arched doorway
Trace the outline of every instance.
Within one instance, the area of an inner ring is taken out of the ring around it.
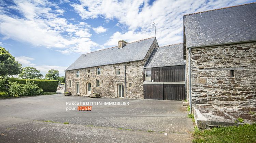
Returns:
[[[117,84],[123,84],[124,97],[133,99],[143,99],[143,66],[150,57],[153,49],[158,47],[156,39],[148,50],[144,60],[120,63],[113,65],[98,66],[101,74],[96,75],[97,67],[78,69],[80,77],[75,78],[75,70],[66,71],[66,90],[75,95],[75,83],[80,84],[80,94],[87,94],[87,84],[91,83],[91,93],[100,93],[101,97],[117,97]],[[124,47],[125,48],[125,47]],[[125,88],[125,65],[126,65],[126,88]],[[120,75],[116,75],[115,70],[120,70]],[[90,73],[88,73],[90,70]],[[96,79],[100,80],[100,87],[96,87]],[[69,88],[69,80],[71,87]],[[132,84],[129,87],[129,83]]]

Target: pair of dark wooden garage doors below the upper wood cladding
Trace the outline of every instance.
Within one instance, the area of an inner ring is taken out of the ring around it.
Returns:
[[[185,84],[145,84],[144,99],[185,100]]]

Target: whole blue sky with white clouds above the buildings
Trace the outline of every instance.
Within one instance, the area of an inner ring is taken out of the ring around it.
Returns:
[[[60,75],[81,54],[153,37],[183,42],[183,15],[256,0],[0,0],[0,46],[23,67]],[[85,61],[86,62],[86,61]]]

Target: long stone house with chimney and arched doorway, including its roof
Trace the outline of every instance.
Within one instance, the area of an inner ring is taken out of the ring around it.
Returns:
[[[103,97],[143,99],[143,66],[156,38],[127,43],[82,54],[65,70],[66,91],[73,95],[100,93]]]

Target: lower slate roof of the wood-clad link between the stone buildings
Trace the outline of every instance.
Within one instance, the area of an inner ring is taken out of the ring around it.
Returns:
[[[186,64],[183,60],[183,43],[155,48],[144,68]]]

